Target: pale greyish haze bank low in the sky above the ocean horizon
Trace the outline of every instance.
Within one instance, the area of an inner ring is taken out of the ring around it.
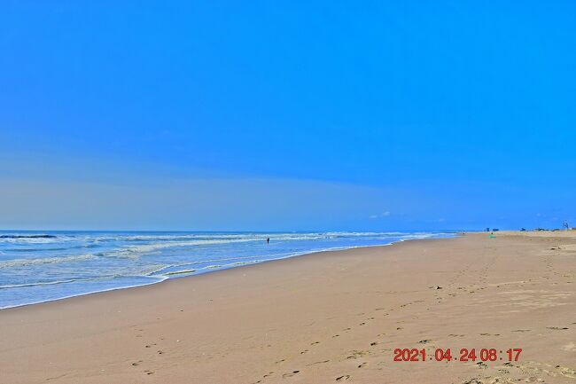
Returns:
[[[0,201],[0,228],[198,231],[362,229],[372,225],[365,217],[375,206],[410,205],[396,190],[263,178],[139,184],[4,178]]]

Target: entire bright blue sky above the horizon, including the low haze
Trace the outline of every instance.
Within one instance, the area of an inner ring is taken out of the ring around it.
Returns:
[[[0,228],[576,226],[572,1],[0,4]]]

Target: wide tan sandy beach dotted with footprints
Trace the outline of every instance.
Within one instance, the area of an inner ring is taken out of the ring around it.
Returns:
[[[1,310],[0,383],[576,382],[576,233],[495,236],[324,252]],[[454,359],[397,362],[394,349]],[[463,362],[461,349],[498,358]],[[508,349],[522,349],[518,361]]]

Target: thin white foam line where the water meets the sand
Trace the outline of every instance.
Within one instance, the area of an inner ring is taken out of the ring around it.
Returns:
[[[458,234],[459,232],[439,232],[439,233],[435,233],[435,234],[448,234],[450,236],[446,237],[446,238],[432,238],[432,239],[452,239],[455,238],[457,236],[460,236]],[[424,239],[431,239],[431,238],[424,238]],[[224,270],[231,270],[231,269],[236,269],[236,268],[244,268],[244,267],[250,267],[256,264],[261,264],[261,263],[272,263],[272,262],[278,262],[281,260],[286,260],[286,259],[292,259],[292,258],[296,258],[296,257],[302,257],[302,256],[310,256],[310,255],[316,255],[316,254],[323,254],[323,253],[330,253],[330,252],[340,252],[340,251],[347,251],[347,250],[351,250],[351,249],[357,249],[357,248],[370,248],[370,247],[389,247],[392,246],[394,244],[397,243],[402,243],[405,241],[414,241],[414,240],[423,240],[423,239],[399,239],[397,241],[393,241],[390,242],[388,244],[378,244],[378,245],[365,245],[365,246],[354,246],[354,247],[334,247],[334,248],[329,248],[329,249],[323,249],[323,250],[315,250],[315,251],[311,251],[311,252],[306,252],[303,254],[297,254],[297,255],[289,255],[289,256],[284,256],[284,257],[279,257],[276,259],[270,259],[270,260],[262,260],[262,261],[258,261],[255,263],[245,263],[245,264],[239,264],[239,265],[231,265],[230,267],[226,267],[226,268],[218,268],[218,269],[214,269],[214,270],[205,270],[203,272],[200,273],[189,273],[189,274],[185,274],[184,276],[175,276],[175,277],[170,277],[170,276],[174,276],[175,274],[168,274],[168,275],[143,275],[141,277],[143,278],[158,278],[159,281],[153,281],[150,283],[146,283],[146,284],[140,284],[137,286],[120,286],[120,287],[115,287],[115,288],[108,288],[108,289],[103,289],[103,290],[97,290],[97,291],[93,291],[93,292],[87,292],[85,294],[72,294],[69,296],[65,296],[65,297],[58,297],[57,299],[50,299],[50,300],[45,300],[45,301],[41,301],[41,302],[29,302],[29,303],[25,303],[25,304],[18,304],[18,305],[12,305],[12,306],[7,306],[7,307],[0,307],[0,314],[2,313],[2,311],[4,310],[12,310],[15,308],[22,308],[22,307],[28,307],[31,305],[40,305],[40,304],[44,304],[44,303],[50,303],[50,302],[59,302],[62,300],[70,300],[70,299],[74,299],[75,297],[83,297],[83,296],[87,296],[87,295],[91,295],[91,294],[105,294],[105,293],[109,293],[109,292],[113,292],[113,291],[120,291],[123,289],[134,289],[134,288],[139,288],[139,287],[144,287],[144,286],[156,286],[159,285],[161,283],[165,283],[169,280],[175,280],[175,279],[179,279],[179,278],[194,278],[200,275],[205,275],[205,274],[209,274],[209,273],[215,273],[215,272],[221,272]],[[225,267],[225,265],[223,265],[222,267]],[[139,276],[140,277],[140,276]],[[53,283],[53,284],[59,284],[59,283]]]

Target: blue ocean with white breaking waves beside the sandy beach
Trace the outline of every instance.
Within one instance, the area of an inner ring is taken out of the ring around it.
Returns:
[[[324,250],[452,236],[449,232],[0,231],[0,309]]]

